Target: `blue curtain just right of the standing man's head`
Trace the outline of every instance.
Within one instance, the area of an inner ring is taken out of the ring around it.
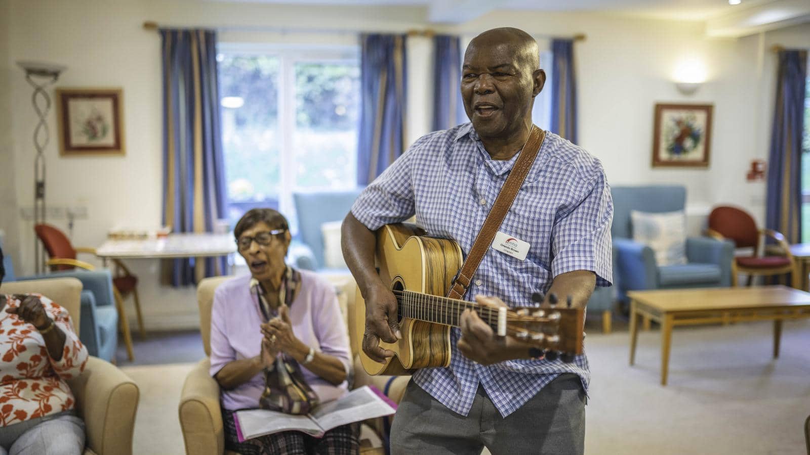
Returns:
[[[573,40],[552,40],[552,133],[577,143],[577,76]]]

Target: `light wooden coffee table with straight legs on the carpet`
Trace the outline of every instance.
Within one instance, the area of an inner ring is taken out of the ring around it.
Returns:
[[[786,286],[710,287],[629,291],[630,364],[636,357],[638,318],[661,324],[661,385],[667,385],[672,327],[727,322],[774,321],[774,358],[782,321],[810,317],[810,293]]]

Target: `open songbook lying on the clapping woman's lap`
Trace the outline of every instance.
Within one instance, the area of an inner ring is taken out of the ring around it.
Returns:
[[[240,442],[278,432],[305,432],[321,437],[332,428],[360,420],[392,415],[397,405],[376,387],[364,385],[335,401],[322,403],[307,415],[290,415],[275,410],[237,410],[237,436]]]

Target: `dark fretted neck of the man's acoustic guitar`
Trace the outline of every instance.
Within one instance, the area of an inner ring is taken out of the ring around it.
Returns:
[[[478,316],[492,327],[492,330],[497,331],[499,314],[497,309],[484,307],[475,302],[431,296],[421,292],[395,291],[394,294],[399,302],[399,316],[401,317],[458,327],[461,314],[464,313],[464,310],[471,309],[478,313]]]

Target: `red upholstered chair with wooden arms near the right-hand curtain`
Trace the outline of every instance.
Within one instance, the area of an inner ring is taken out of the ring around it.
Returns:
[[[731,286],[737,286],[737,274],[748,274],[748,286],[754,275],[772,276],[791,274],[791,286],[799,288],[799,269],[791,254],[785,236],[773,229],[758,229],[757,223],[745,210],[731,206],[719,206],[709,214],[709,236],[719,240],[733,240],[736,248],[753,248],[751,256],[737,256],[731,263]],[[765,237],[776,240],[778,256],[757,256],[761,240]]]

